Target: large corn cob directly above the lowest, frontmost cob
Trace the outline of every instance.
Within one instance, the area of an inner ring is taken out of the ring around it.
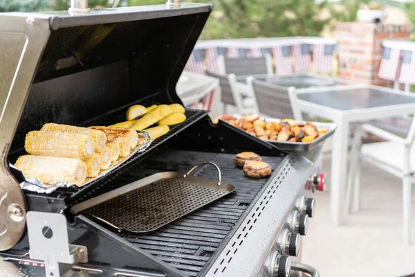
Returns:
[[[24,141],[29,154],[82,160],[91,157],[94,145],[92,136],[70,132],[31,131]]]

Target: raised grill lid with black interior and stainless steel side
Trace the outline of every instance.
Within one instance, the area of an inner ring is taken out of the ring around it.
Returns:
[[[26,222],[9,152],[44,123],[80,125],[134,102],[181,102],[176,82],[211,10],[182,3],[0,13],[0,251]]]

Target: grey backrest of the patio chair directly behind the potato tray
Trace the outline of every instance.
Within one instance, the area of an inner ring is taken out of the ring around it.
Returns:
[[[252,87],[255,102],[260,114],[273,118],[293,118],[302,121],[302,112],[297,103],[295,87],[281,87],[255,80],[252,76],[246,78],[247,84]]]

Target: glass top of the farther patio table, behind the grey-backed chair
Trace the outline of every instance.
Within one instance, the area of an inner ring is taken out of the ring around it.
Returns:
[[[285,75],[285,76],[270,76],[257,77],[255,80],[267,82],[269,84],[277,84],[281,87],[296,87],[297,89],[307,89],[310,87],[333,87],[336,85],[347,84],[346,82],[338,82],[331,80],[331,78],[313,76],[313,75]],[[245,83],[243,78],[239,82]]]

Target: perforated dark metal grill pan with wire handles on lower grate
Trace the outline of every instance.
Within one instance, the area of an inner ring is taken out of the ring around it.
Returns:
[[[205,164],[216,167],[219,181],[190,175]],[[234,189],[231,184],[221,181],[221,170],[215,163],[205,162],[194,166],[187,174],[156,173],[77,204],[71,212],[92,217],[120,232],[146,234],[232,193]]]

